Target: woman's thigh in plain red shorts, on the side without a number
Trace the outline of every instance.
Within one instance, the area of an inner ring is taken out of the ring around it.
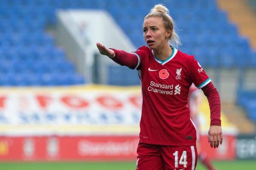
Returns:
[[[158,145],[139,143],[137,154],[136,170],[164,170],[163,158]]]

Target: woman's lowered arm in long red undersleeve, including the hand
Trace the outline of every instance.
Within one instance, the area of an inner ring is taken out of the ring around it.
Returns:
[[[208,141],[211,147],[218,147],[222,144],[222,128],[221,128],[221,100],[217,89],[212,82],[202,88],[205,96],[207,96],[211,111],[211,124],[208,132]]]

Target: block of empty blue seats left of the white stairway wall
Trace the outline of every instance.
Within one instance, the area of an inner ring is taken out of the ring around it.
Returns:
[[[0,86],[85,83],[44,31],[55,22],[55,8],[51,1],[0,1]]]

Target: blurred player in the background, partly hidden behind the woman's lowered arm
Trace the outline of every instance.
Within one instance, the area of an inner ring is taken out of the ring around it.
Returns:
[[[201,104],[202,96],[201,91],[192,84],[189,88],[189,96],[188,96],[188,107],[190,111],[190,117],[195,124],[197,129],[197,141],[196,147],[198,151],[198,159],[207,167],[208,170],[215,170],[207,153],[201,150],[201,142],[200,142],[200,120],[199,120],[199,107]]]

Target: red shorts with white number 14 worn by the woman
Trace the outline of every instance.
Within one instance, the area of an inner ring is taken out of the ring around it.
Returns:
[[[195,170],[196,146],[163,146],[139,143],[136,170]]]

